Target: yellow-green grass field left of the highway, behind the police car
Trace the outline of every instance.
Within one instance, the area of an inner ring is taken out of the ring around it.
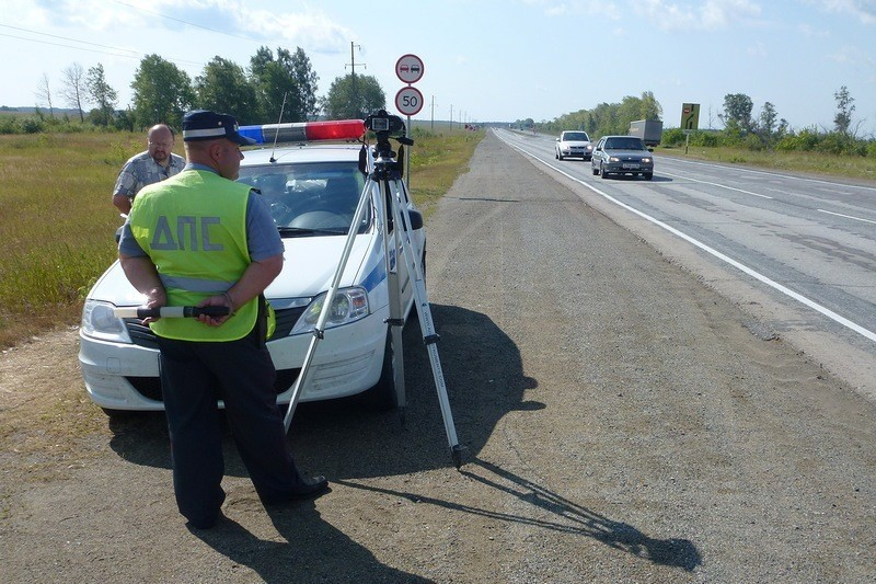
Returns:
[[[427,218],[483,136],[414,130],[411,186]],[[143,134],[0,136],[0,347],[78,324],[84,295],[116,257],[116,176],[145,149]]]

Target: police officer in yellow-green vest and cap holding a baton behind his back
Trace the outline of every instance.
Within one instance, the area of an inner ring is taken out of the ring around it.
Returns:
[[[191,526],[206,529],[226,497],[218,400],[265,504],[318,496],[327,481],[299,474],[276,404],[263,291],[280,273],[284,247],[261,197],[233,182],[240,147],[252,140],[232,116],[198,110],[183,118],[183,172],[134,199],[119,261],[149,307],[231,311],[145,321],[158,336],[176,503]]]

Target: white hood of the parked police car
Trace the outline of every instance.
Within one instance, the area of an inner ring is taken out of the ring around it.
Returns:
[[[350,286],[364,267],[374,236],[356,237],[341,286]],[[284,238],[283,272],[265,290],[267,298],[312,297],[328,289],[346,243],[346,236]],[[143,295],[130,285],[122,265],[114,262],[89,293],[89,298],[115,306],[140,306]]]

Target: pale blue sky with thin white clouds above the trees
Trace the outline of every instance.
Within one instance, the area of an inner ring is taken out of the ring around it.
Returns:
[[[194,81],[262,46],[302,48],[320,96],[355,64],[391,113],[396,62],[416,55],[419,121],[551,121],[649,91],[665,127],[699,103],[700,128],[719,128],[744,93],[756,117],[770,102],[794,129],[829,130],[844,85],[851,129],[876,136],[876,0],[0,0],[0,105],[45,106],[47,78],[65,106],[64,70],[101,64],[125,107],[146,55]]]

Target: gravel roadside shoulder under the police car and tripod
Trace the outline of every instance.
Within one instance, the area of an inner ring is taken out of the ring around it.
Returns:
[[[265,509],[230,438],[189,531],[161,414],[108,420],[76,330],[0,356],[0,581],[876,582],[876,408],[492,135],[428,230],[463,465],[416,323],[408,404],[301,404],[314,502]]]

